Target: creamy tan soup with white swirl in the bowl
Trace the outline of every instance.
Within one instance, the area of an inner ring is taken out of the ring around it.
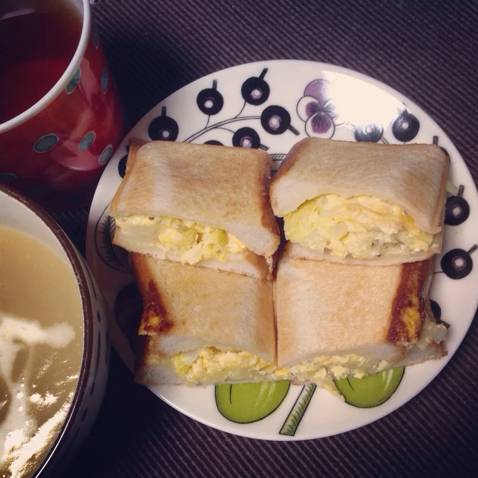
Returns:
[[[28,477],[70,408],[83,354],[71,267],[42,242],[0,227],[0,477]]]

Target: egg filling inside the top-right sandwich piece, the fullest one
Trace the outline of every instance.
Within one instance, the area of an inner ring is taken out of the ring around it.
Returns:
[[[372,196],[317,196],[284,217],[284,233],[292,242],[320,253],[328,249],[338,258],[371,259],[438,247],[403,209]]]

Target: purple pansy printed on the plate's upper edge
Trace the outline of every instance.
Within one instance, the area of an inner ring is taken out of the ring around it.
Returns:
[[[305,87],[304,96],[297,103],[297,114],[305,122],[305,132],[309,136],[331,138],[334,135],[334,120],[338,115],[330,103],[328,90],[328,80],[313,80]]]

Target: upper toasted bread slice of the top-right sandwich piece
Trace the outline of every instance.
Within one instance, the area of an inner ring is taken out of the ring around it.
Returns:
[[[306,138],[280,165],[270,185],[278,217],[321,194],[368,195],[402,209],[423,231],[441,227],[448,157],[434,144],[378,144]]]

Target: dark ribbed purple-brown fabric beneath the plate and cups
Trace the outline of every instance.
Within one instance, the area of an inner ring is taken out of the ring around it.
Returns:
[[[94,11],[130,125],[177,89],[226,67],[323,61],[416,102],[478,180],[475,0],[100,0]],[[82,251],[87,216],[56,216]],[[181,415],[133,385],[113,353],[98,421],[66,476],[477,477],[477,370],[475,319],[445,369],[399,410],[340,436],[279,443],[231,436]]]

